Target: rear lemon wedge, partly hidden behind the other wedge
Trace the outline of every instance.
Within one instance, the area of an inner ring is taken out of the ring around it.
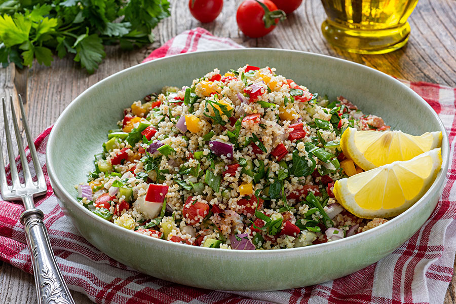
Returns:
[[[408,161],[417,155],[440,147],[442,132],[413,136],[401,131],[358,131],[347,128],[340,139],[344,155],[364,170]]]

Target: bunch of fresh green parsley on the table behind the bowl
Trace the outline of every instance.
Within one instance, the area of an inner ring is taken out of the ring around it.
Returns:
[[[153,41],[151,30],[170,15],[168,0],[0,0],[0,62],[50,65],[52,54],[74,54],[89,73],[104,45],[131,49]]]

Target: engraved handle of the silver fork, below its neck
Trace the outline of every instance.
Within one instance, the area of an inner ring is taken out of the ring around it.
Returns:
[[[28,209],[21,214],[25,238],[30,250],[36,292],[40,304],[74,304],[49,242],[40,209]]]

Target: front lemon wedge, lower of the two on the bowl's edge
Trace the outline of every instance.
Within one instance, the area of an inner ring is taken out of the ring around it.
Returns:
[[[361,218],[396,216],[416,203],[429,189],[442,166],[436,148],[408,161],[396,161],[334,184],[334,196]]]

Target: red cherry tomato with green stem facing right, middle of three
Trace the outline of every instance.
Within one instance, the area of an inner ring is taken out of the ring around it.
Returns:
[[[238,8],[236,21],[239,29],[251,38],[262,37],[271,32],[279,23],[285,19],[285,13],[277,10],[271,0],[245,0]],[[264,21],[263,21],[263,17]]]

